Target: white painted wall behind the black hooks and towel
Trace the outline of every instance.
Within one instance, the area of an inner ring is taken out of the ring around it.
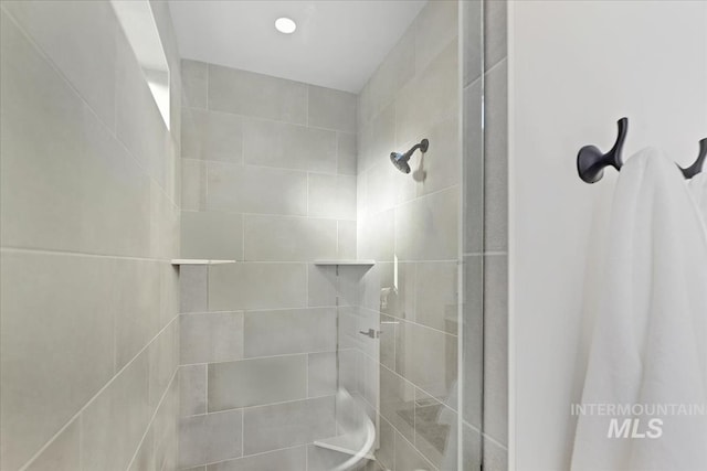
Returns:
[[[615,172],[577,176],[580,147],[664,148],[707,137],[707,2],[517,1],[509,8],[510,465],[569,468],[583,381],[583,312]],[[583,325],[584,324],[584,325]]]

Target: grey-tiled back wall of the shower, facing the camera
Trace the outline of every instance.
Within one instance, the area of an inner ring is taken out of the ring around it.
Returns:
[[[314,470],[338,286],[314,260],[356,258],[356,95],[193,61],[182,77],[181,256],[235,264],[182,267],[180,467]]]

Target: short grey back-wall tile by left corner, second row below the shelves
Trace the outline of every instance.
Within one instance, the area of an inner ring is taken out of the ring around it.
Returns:
[[[243,357],[243,313],[181,314],[180,364],[228,362]]]

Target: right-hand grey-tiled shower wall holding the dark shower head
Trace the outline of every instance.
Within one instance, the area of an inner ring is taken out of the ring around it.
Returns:
[[[456,465],[457,9],[429,2],[359,95],[358,256],[376,260],[359,315],[380,315],[382,331],[380,355],[361,356],[362,381],[380,394],[369,404],[380,416],[377,457],[399,471]],[[423,138],[423,168],[415,153],[413,172],[399,172],[390,152]]]

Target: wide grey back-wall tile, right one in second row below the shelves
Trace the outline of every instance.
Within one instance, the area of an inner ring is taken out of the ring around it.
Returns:
[[[244,319],[245,357],[336,350],[336,309],[249,311]]]

